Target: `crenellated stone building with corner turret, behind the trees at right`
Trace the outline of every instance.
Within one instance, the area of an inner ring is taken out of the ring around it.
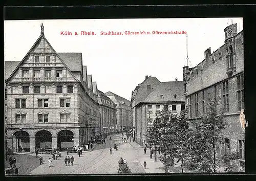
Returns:
[[[183,67],[186,107],[190,120],[200,119],[205,114],[209,97],[225,108],[223,131],[224,144],[219,145],[218,154],[240,152],[241,159],[234,162],[237,171],[244,171],[245,139],[239,115],[244,109],[244,55],[243,31],[237,33],[237,24],[225,28],[225,43],[211,53],[205,52],[205,59],[196,67]]]

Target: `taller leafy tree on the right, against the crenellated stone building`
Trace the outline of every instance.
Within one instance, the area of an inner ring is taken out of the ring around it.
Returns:
[[[206,114],[200,120],[193,121],[193,140],[191,147],[191,161],[189,169],[198,169],[199,172],[217,172],[222,162],[237,159],[237,154],[230,153],[224,156],[217,154],[217,149],[223,144],[224,109],[217,111],[217,102],[208,99]]]

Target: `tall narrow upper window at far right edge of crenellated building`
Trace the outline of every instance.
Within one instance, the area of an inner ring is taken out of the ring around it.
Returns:
[[[244,74],[237,76],[237,101],[240,111],[244,108]]]

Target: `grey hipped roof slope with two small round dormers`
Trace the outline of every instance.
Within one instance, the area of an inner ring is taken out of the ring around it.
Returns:
[[[183,81],[161,82],[152,93],[150,93],[141,102],[180,102],[185,101],[183,94],[184,84]],[[174,95],[177,98],[174,98]],[[160,95],[163,95],[163,99],[160,99]]]

